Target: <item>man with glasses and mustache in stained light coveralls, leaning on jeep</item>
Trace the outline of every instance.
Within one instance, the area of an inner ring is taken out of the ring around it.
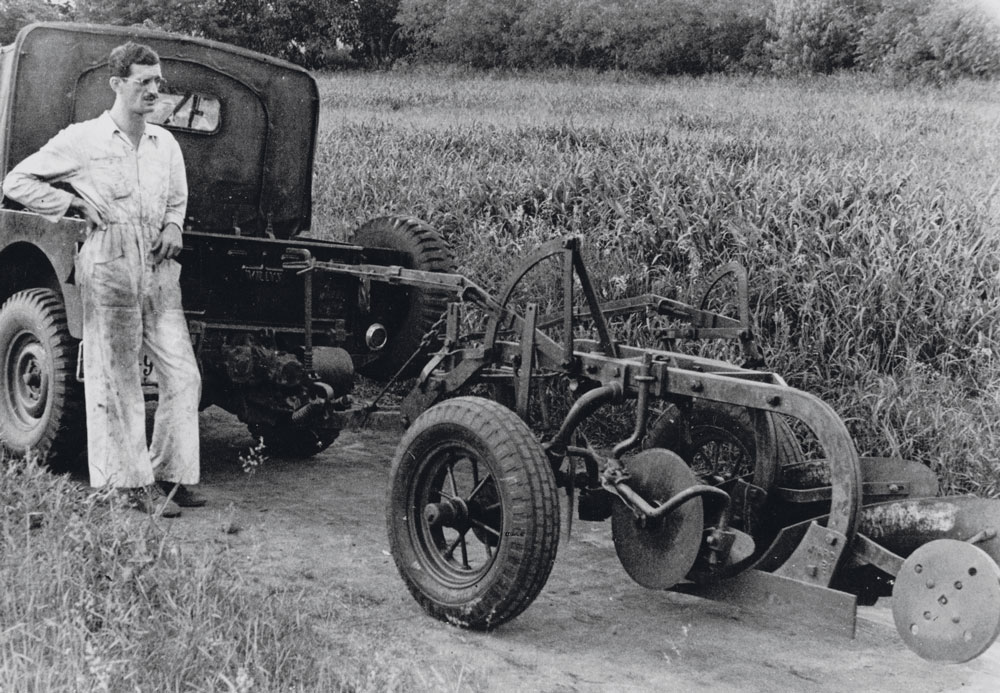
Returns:
[[[201,376],[175,259],[187,180],[173,135],[146,122],[163,84],[157,54],[128,42],[111,51],[109,66],[111,110],[62,130],[7,175],[3,190],[51,221],[75,211],[89,222],[76,281],[90,483],[121,489],[139,510],[175,517],[179,505],[205,503],[189,488],[199,477]],[[159,384],[148,448],[143,345]]]

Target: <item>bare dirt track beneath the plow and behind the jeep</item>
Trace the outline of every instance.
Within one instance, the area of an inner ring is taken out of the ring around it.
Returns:
[[[424,615],[388,552],[384,493],[397,433],[345,433],[314,459],[270,459],[248,476],[238,460],[252,443],[245,428],[216,409],[202,428],[211,503],[172,531],[224,536],[263,581],[351,593],[373,621],[412,634],[429,662],[467,668],[490,690],[1000,690],[1000,645],[964,665],[926,662],[882,603],[861,610],[850,640],[639,587],[618,563],[610,522],[574,522],[568,541],[564,532],[545,589],[520,617],[489,634],[459,630]]]

